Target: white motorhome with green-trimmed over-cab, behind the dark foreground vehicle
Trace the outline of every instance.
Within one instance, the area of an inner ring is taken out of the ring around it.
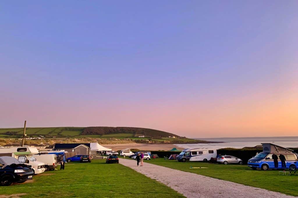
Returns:
[[[0,148],[0,156],[11,156],[16,158],[19,162],[26,165],[30,165],[33,169],[34,174],[39,174],[44,172],[44,163],[41,161],[36,161],[34,154],[38,154],[37,148],[34,147],[10,147],[10,148]]]

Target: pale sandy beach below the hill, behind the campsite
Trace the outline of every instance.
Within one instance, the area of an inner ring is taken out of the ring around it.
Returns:
[[[182,147],[177,147],[174,144],[103,144],[104,147],[111,148],[112,150],[122,150],[126,148],[139,149],[139,150],[171,150],[172,148],[177,148],[178,150],[183,150]]]

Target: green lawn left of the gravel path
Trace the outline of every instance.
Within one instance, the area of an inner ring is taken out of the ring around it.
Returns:
[[[58,167],[59,168],[59,167]],[[32,183],[1,187],[0,194],[22,197],[183,197],[173,189],[121,164],[67,163],[65,170],[44,172]]]

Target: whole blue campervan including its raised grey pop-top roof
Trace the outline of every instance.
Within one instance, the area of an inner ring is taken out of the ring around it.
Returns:
[[[274,160],[272,155],[276,154],[278,156],[278,166],[274,166]],[[282,166],[282,161],[280,160],[280,155],[285,156],[285,165]],[[298,166],[298,155],[293,153],[293,150],[277,146],[271,143],[263,144],[263,152],[258,153],[253,158],[249,159],[247,165],[252,169],[297,169]]]

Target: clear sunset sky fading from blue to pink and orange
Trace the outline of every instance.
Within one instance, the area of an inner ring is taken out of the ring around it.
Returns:
[[[298,1],[0,1],[0,128],[297,136]]]

